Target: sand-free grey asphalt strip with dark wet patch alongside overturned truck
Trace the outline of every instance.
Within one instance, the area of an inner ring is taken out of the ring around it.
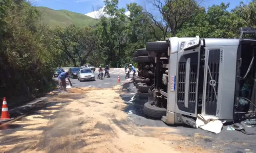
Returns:
[[[127,84],[126,87],[130,92],[137,93],[137,89],[134,85]],[[202,129],[194,129],[189,126],[170,126],[166,125],[161,120],[154,120],[147,118],[143,113],[143,105],[147,102],[147,99],[140,99],[137,94],[124,95],[123,100],[129,101],[129,107],[125,109],[128,114],[128,118],[137,126],[152,126],[152,127],[169,127],[175,129],[181,136],[191,137],[194,139],[195,135],[200,134],[203,137],[198,138],[194,143],[195,145],[204,146],[207,148],[215,148],[219,152],[256,152],[256,136],[245,135],[239,131],[227,131],[229,125],[224,125],[221,133],[214,134],[211,132],[204,131]],[[256,128],[248,128],[246,130],[250,133],[255,133]],[[172,132],[170,132],[172,133]]]

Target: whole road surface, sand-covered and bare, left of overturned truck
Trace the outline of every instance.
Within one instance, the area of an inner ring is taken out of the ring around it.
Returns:
[[[5,152],[255,152],[255,136],[224,128],[218,135],[190,127],[170,127],[146,118],[144,99],[120,73],[91,82],[72,81],[67,93],[50,93],[26,117],[4,126]],[[56,79],[56,78],[55,78]],[[15,114],[17,115],[17,114]],[[244,139],[245,138],[245,139]]]

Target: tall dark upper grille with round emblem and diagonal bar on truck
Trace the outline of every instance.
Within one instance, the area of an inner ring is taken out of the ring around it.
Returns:
[[[219,85],[220,49],[209,50],[205,114],[216,115]]]

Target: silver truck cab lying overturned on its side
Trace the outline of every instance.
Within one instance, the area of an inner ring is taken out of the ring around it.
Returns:
[[[197,114],[230,122],[255,115],[256,40],[172,37],[146,50],[155,58],[147,116],[196,127]]]

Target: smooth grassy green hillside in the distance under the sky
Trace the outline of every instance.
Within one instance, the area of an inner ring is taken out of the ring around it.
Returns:
[[[77,27],[84,27],[86,25],[94,25],[96,20],[84,14],[70,12],[67,10],[53,10],[47,7],[37,7],[42,13],[42,19],[51,28],[59,27],[65,28],[70,24]]]

